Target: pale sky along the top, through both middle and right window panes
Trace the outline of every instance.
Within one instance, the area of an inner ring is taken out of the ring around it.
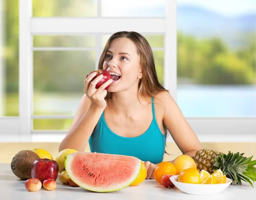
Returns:
[[[229,17],[256,12],[256,0],[177,0],[177,3],[200,6]],[[148,11],[153,8],[163,13],[164,5],[165,0],[102,0],[103,15],[108,16],[129,16],[134,12],[137,15],[152,16]]]

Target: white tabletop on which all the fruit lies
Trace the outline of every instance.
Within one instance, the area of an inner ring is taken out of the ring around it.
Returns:
[[[164,188],[155,180],[145,180],[139,186],[128,186],[116,192],[90,192],[81,187],[65,186],[57,179],[57,188],[47,191],[41,188],[37,192],[28,192],[25,180],[20,180],[11,170],[10,164],[0,163],[0,199],[1,200],[163,200],[164,197],[175,200],[240,200],[256,196],[256,188],[247,183],[228,186],[223,192],[214,195],[186,194],[175,188]],[[256,183],[254,183],[256,186]]]

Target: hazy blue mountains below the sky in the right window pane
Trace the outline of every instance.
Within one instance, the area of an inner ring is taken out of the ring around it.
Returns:
[[[220,37],[231,48],[245,44],[256,33],[256,14],[226,17],[205,8],[177,6],[177,29],[195,37]]]

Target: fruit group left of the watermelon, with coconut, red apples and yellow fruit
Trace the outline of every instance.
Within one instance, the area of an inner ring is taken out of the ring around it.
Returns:
[[[73,152],[77,151],[64,149],[54,160],[45,149],[22,150],[12,159],[11,169],[17,177],[26,180],[25,187],[30,192],[38,191],[42,186],[46,190],[55,190],[59,173],[61,183],[77,187],[64,168],[64,157]]]

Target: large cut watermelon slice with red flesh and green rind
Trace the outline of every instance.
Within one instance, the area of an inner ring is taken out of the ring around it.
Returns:
[[[140,159],[126,155],[75,152],[65,157],[70,179],[94,192],[113,192],[129,186],[140,167]]]

